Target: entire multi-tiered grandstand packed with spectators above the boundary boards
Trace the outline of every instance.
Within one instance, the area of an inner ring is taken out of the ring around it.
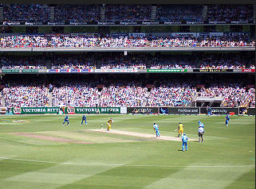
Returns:
[[[252,5],[0,10],[1,106],[255,107]]]

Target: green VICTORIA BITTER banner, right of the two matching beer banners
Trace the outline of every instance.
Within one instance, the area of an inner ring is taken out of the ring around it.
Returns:
[[[66,107],[65,114],[120,114],[120,107]]]

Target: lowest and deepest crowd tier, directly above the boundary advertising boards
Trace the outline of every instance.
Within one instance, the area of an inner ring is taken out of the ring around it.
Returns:
[[[170,77],[170,78],[169,78]],[[223,97],[223,107],[250,106],[255,107],[255,88],[247,89],[244,84],[246,78],[236,83],[230,77],[226,83],[216,78],[218,82],[204,78],[204,87],[195,88],[200,81],[193,79],[193,75],[183,77],[179,81],[175,76],[154,75],[146,79],[138,75],[100,75],[80,76],[57,75],[40,76],[33,79],[29,76],[7,78],[8,85],[3,89],[7,107],[17,106],[191,106],[198,93],[202,97]],[[117,81],[117,78],[120,78]],[[124,79],[126,78],[126,79]],[[163,79],[164,78],[164,79]],[[18,79],[18,80],[17,80]],[[203,79],[203,77],[201,78]],[[236,78],[238,79],[238,78]],[[31,83],[33,80],[33,83]],[[74,82],[77,80],[77,82]],[[200,79],[199,79],[200,80]],[[132,82],[133,81],[133,82]],[[136,81],[136,82],[135,82]],[[21,84],[22,83],[22,84]],[[53,84],[53,92],[49,92],[49,83]],[[152,83],[152,87],[148,87]],[[207,84],[208,83],[208,84]],[[104,87],[97,87],[98,84]],[[52,105],[49,103],[52,98]]]

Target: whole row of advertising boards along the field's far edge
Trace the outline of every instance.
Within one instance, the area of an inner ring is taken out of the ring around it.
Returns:
[[[125,109],[122,110],[121,109]],[[13,114],[160,114],[161,107],[14,107]],[[162,107],[163,108],[163,107]],[[165,107],[166,114],[207,114],[206,107]],[[248,115],[255,115],[255,108],[248,108]],[[61,112],[60,112],[61,111]],[[239,109],[229,107],[211,107],[211,113],[226,115]]]

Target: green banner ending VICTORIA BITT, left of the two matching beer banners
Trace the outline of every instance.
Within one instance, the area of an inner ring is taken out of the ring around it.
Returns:
[[[12,108],[13,114],[58,114],[58,107],[21,107]]]

